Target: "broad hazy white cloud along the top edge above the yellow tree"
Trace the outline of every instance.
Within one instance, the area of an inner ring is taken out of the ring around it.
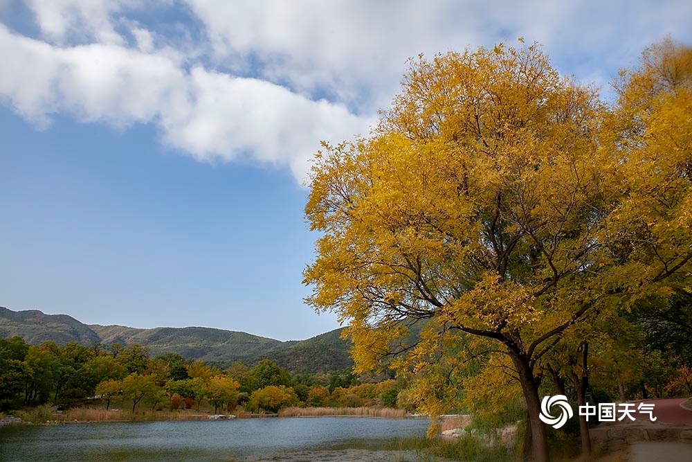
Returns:
[[[260,61],[264,78],[307,94],[327,89],[363,112],[388,105],[406,59],[421,52],[523,36],[583,80],[631,65],[667,33],[689,39],[692,20],[692,3],[684,0],[185,1],[205,25],[219,65],[242,71]]]

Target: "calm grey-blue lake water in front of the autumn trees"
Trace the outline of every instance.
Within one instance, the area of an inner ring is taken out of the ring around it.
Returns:
[[[0,429],[0,461],[228,461],[302,450],[395,449],[428,420],[261,418]]]

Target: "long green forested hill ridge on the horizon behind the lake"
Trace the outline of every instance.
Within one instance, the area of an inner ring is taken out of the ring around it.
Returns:
[[[279,341],[246,332],[203,327],[136,329],[125,326],[98,326],[81,323],[66,314],[44,314],[38,310],[12,311],[0,307],[0,338],[21,337],[28,344],[70,341],[94,344],[140,344],[152,356],[179,353],[189,359],[203,359],[230,365],[240,361],[251,366],[262,359],[296,373],[340,371],[353,365],[349,343],[340,338],[341,329],[302,341]]]

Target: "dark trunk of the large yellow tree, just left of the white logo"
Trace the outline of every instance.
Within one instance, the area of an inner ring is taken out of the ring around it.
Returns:
[[[538,418],[540,414],[540,398],[538,398],[538,387],[534,378],[534,371],[531,369],[529,359],[523,357],[516,351],[509,350],[509,355],[514,362],[519,373],[521,389],[526,400],[527,413],[527,432],[531,432],[531,456],[536,462],[549,462],[548,440],[545,433],[545,425]],[[530,430],[529,430],[530,429]]]

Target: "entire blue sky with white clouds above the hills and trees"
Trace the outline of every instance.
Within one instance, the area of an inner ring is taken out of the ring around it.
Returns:
[[[608,97],[680,1],[0,0],[0,306],[276,339],[302,302],[320,140],[367,134],[406,59],[540,42]]]

